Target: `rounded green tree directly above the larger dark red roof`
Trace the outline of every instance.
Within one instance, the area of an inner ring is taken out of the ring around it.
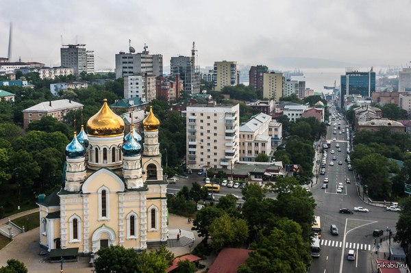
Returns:
[[[248,238],[247,222],[243,219],[232,218],[228,214],[215,218],[209,231],[212,238],[211,246],[216,250],[225,247],[239,247]]]

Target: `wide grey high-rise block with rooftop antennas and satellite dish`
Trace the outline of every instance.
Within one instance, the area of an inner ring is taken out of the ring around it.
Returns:
[[[129,53],[120,51],[116,54],[116,78],[127,77],[136,73],[147,73],[162,76],[162,55],[150,54],[147,47],[141,53],[134,53],[134,49],[130,47]]]

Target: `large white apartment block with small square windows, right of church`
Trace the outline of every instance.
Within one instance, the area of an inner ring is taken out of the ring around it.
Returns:
[[[240,105],[186,108],[187,168],[230,168],[239,160]]]

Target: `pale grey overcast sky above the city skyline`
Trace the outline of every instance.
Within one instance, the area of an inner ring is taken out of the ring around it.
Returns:
[[[97,69],[114,68],[129,39],[137,52],[147,43],[161,53],[164,66],[171,56],[190,55],[193,41],[201,67],[230,60],[279,69],[284,57],[353,66],[411,60],[406,0],[0,0],[0,7],[0,57],[7,57],[13,22],[13,61],[47,66],[60,65],[61,36],[94,50]]]

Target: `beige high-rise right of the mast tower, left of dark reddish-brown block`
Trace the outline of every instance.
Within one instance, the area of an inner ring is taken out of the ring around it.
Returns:
[[[237,62],[214,62],[214,90],[221,91],[225,86],[236,86],[239,83]]]

